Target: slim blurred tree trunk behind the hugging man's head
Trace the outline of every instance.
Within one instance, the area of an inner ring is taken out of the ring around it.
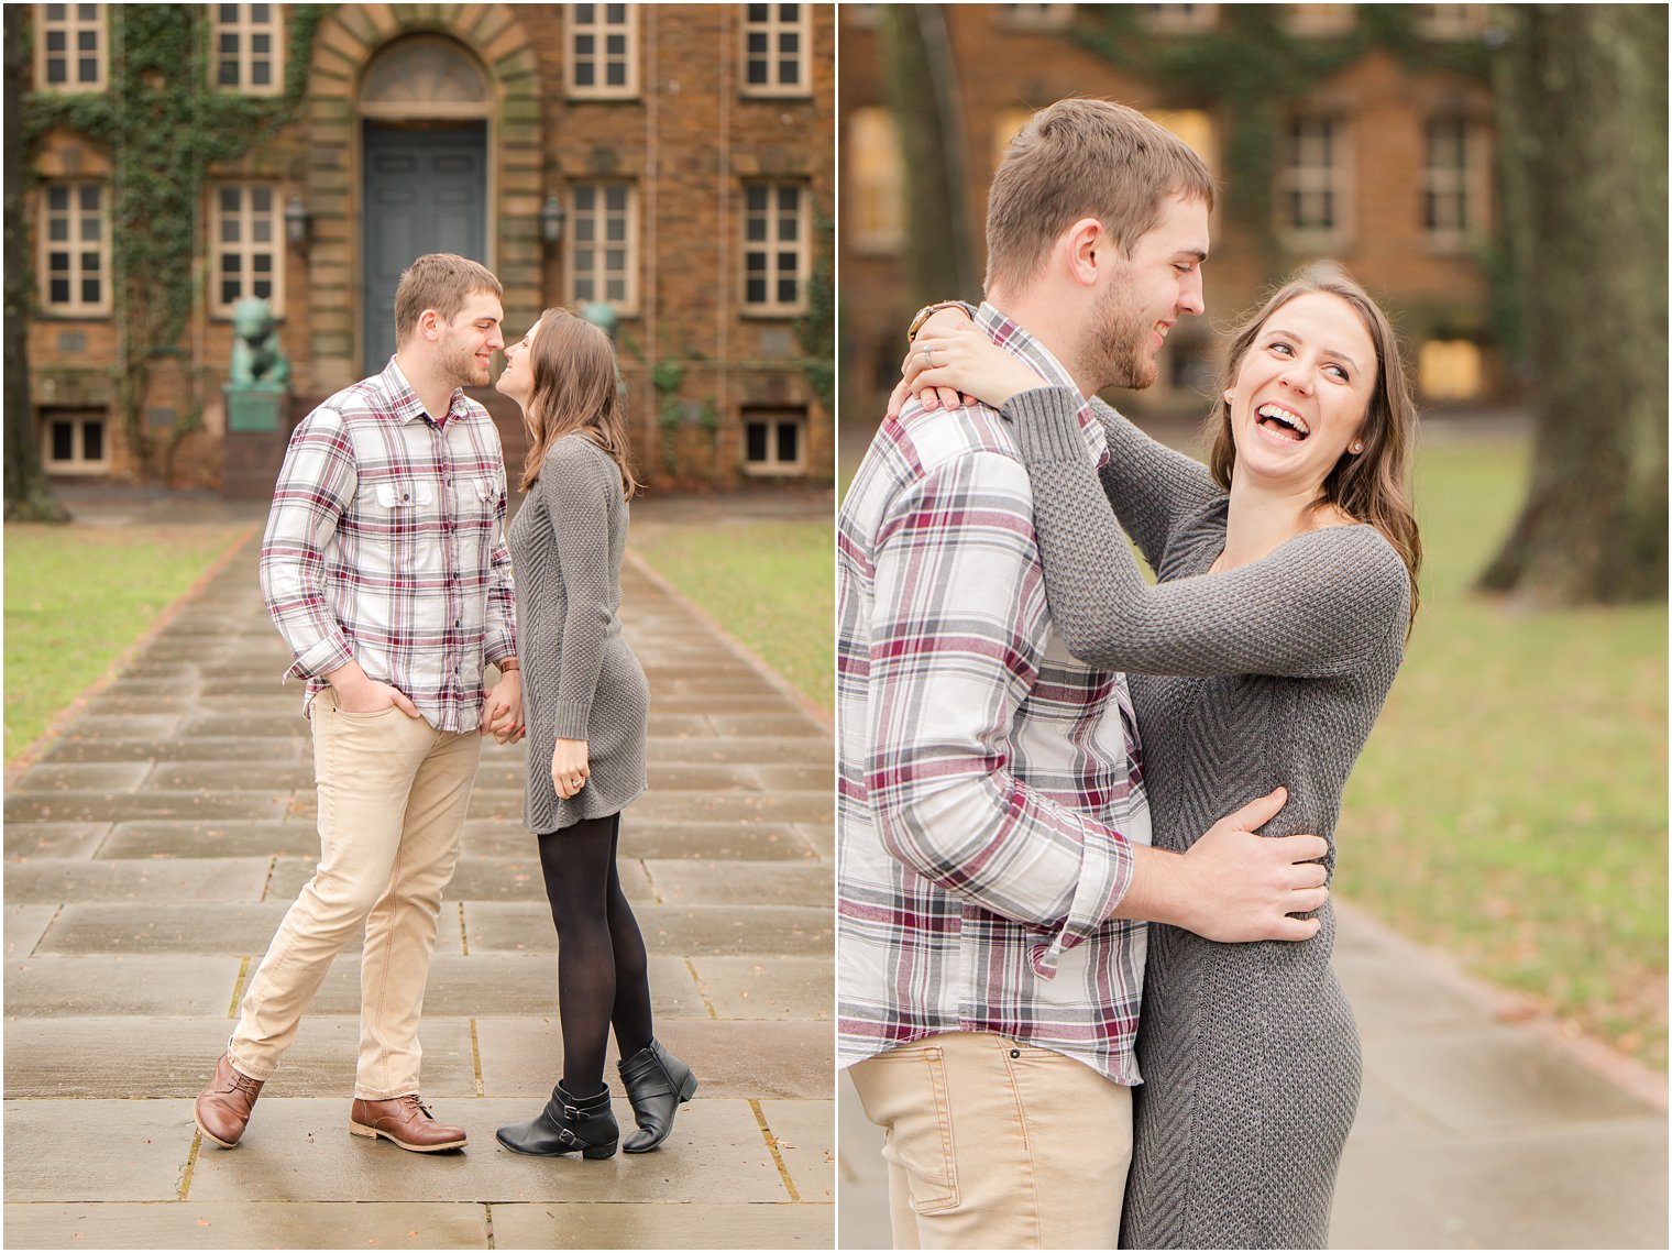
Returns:
[[[980,294],[965,202],[958,67],[940,5],[883,5],[888,100],[906,196],[906,279],[918,303]]]

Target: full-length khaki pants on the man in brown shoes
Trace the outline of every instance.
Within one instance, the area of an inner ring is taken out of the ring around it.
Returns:
[[[249,980],[227,1054],[251,1079],[271,1079],[331,960],[364,925],[354,1096],[405,1096],[418,1091],[423,989],[482,738],[395,708],[344,713],[329,688],[311,714],[319,868]]]

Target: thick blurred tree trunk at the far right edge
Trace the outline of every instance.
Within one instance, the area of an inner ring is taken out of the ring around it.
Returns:
[[[1480,587],[1667,594],[1667,10],[1500,5],[1505,221],[1527,313],[1533,482]]]

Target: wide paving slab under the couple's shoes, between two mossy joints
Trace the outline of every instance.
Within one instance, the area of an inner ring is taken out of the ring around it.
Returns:
[[[145,1104],[176,1111],[171,1129],[184,1161],[196,1136],[191,1102]],[[187,1196],[194,1201],[707,1201],[724,1179],[727,1199],[789,1199],[746,1101],[694,1101],[679,1112],[660,1149],[617,1153],[605,1161],[527,1158],[495,1143],[498,1128],[533,1117],[540,1104],[532,1097],[448,1101],[446,1117],[465,1129],[470,1146],[460,1153],[406,1153],[381,1139],[348,1134],[343,1101],[263,1101],[259,1128],[252,1121],[236,1149],[206,1144],[199,1151]],[[614,1107],[617,1121],[630,1126],[627,1101],[617,1099]]]

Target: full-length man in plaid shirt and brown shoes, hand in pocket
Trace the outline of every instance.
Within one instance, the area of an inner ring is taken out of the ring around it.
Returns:
[[[475,261],[418,258],[395,296],[395,356],[309,413],[279,472],[261,587],[296,657],[286,678],[308,681],[321,855],[197,1097],[222,1148],[361,927],[349,1131],[416,1153],[465,1144],[418,1097],[418,1017],[482,738],[522,734],[505,463],[463,391],[503,348],[502,296]]]

